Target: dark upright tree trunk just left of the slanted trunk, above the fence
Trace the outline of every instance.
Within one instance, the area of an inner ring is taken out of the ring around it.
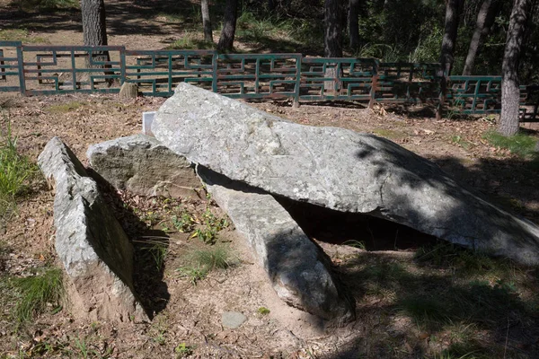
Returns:
[[[446,28],[440,52],[440,63],[446,76],[451,74],[453,67],[458,21],[463,4],[464,0],[446,0]]]

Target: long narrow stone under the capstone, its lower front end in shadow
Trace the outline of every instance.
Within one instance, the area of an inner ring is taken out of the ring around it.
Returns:
[[[198,167],[212,198],[249,241],[278,296],[340,326],[355,319],[355,305],[331,276],[330,260],[267,192]]]

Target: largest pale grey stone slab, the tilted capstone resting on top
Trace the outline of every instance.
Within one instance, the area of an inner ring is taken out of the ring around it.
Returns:
[[[309,127],[181,83],[157,111],[155,137],[175,153],[254,187],[376,215],[492,255],[539,263],[539,228],[460,187],[398,144]]]

